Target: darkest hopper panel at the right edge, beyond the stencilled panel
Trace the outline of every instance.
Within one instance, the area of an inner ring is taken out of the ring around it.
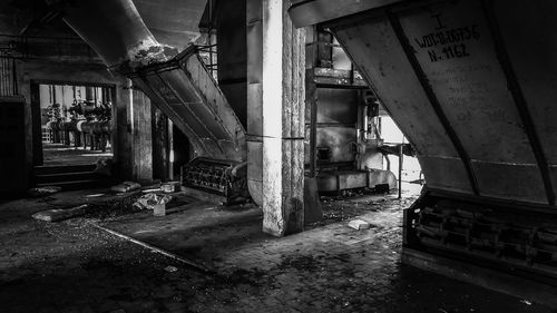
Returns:
[[[497,0],[492,10],[557,193],[557,2]]]

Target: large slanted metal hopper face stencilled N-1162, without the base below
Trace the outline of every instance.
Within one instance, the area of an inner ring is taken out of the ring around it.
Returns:
[[[314,9],[295,10],[304,8]],[[472,184],[480,196],[554,204],[557,4],[405,1],[339,12],[325,26],[418,150],[429,187],[471,193]]]

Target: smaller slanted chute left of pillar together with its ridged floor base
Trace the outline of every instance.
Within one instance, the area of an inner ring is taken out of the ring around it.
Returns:
[[[248,199],[245,130],[197,48],[189,46],[166,62],[140,68],[131,78],[192,143],[193,159],[182,167],[183,188],[224,205]]]

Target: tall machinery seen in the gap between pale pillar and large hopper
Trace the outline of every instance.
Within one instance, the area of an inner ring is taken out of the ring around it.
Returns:
[[[319,26],[307,32],[307,175],[316,178],[320,193],[395,188],[381,150],[380,115],[387,114],[334,36]]]

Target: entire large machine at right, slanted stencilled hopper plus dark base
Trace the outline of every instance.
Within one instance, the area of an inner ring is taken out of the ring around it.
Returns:
[[[555,304],[557,3],[295,0],[290,14],[334,35],[416,149],[427,188],[402,261]]]

